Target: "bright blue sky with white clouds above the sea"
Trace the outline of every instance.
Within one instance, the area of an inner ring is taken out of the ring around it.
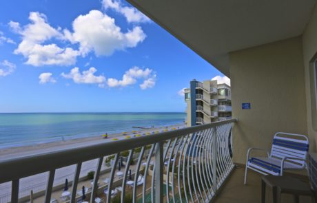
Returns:
[[[125,1],[0,3],[0,112],[185,111],[223,76]]]

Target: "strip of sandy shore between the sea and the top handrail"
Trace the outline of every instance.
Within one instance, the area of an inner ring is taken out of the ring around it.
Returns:
[[[175,125],[162,125],[159,127],[154,128],[133,128],[136,133],[133,133],[133,131],[127,131],[123,135],[122,132],[120,133],[111,133],[108,134],[108,138],[103,138],[102,135],[99,136],[90,136],[90,137],[84,137],[84,138],[73,138],[73,139],[66,139],[66,140],[59,140],[59,141],[53,141],[53,142],[45,142],[45,143],[39,143],[34,145],[24,145],[19,147],[6,147],[6,148],[0,148],[0,160],[6,160],[10,158],[19,158],[22,156],[31,156],[38,153],[45,153],[50,151],[57,151],[61,149],[70,149],[70,148],[76,148],[76,147],[83,147],[88,145],[94,145],[98,144],[100,142],[109,142],[112,140],[112,138],[125,138],[125,136],[131,136],[133,137],[134,134],[141,134],[153,131],[162,131],[163,129],[169,129],[172,128],[181,128],[185,127],[185,123],[178,123]]]

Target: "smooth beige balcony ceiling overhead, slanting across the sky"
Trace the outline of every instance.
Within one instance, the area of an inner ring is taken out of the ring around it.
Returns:
[[[127,1],[227,76],[229,52],[303,34],[316,4],[315,0]]]

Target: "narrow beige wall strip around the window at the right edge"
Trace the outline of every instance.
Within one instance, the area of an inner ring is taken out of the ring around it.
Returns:
[[[314,55],[317,53],[317,8],[315,8],[309,23],[303,34],[303,55],[305,65],[305,89],[306,89],[306,105],[307,105],[307,131],[309,138],[314,142],[314,151],[316,151],[317,145],[317,119],[316,119],[316,103],[311,98],[314,98],[311,85],[314,84],[314,80],[311,78],[312,64],[309,63],[314,59]],[[316,57],[315,57],[316,59]],[[314,119],[313,119],[314,116]],[[311,144],[313,144],[311,142]],[[312,146],[312,145],[311,145]]]

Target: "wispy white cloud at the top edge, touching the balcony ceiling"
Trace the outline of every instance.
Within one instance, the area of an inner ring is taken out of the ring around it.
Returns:
[[[103,0],[102,3],[103,8],[105,8],[105,10],[112,9],[116,12],[119,12],[120,14],[123,14],[125,19],[127,19],[127,22],[129,23],[150,22],[150,19],[147,16],[145,16],[145,14],[139,12],[139,10],[136,10],[136,8],[130,6],[123,6],[121,1]]]

